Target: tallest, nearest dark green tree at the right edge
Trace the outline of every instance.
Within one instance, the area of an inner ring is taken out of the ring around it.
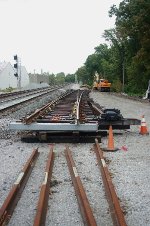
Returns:
[[[149,0],[124,0],[119,8],[110,9],[116,16],[115,31],[124,40],[128,91],[144,92],[150,79],[150,2]]]

